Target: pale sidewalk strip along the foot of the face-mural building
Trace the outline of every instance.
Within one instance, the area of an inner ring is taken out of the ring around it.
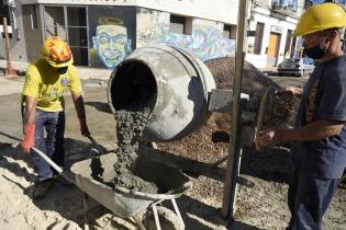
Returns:
[[[27,62],[22,61],[12,61],[12,67],[20,72],[25,72]],[[7,68],[7,60],[0,59],[0,69]],[[77,67],[80,79],[88,80],[88,79],[100,79],[100,80],[108,80],[111,76],[112,70],[108,69],[99,69],[99,68],[88,68],[88,67]]]

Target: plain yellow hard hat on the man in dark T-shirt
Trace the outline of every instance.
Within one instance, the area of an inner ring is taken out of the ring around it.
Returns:
[[[300,16],[293,36],[302,36],[317,31],[346,26],[344,8],[336,3],[327,2],[306,9]]]

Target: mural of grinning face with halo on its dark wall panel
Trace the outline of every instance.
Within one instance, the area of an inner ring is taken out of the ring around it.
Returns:
[[[134,48],[133,8],[89,9],[90,66],[114,69]]]

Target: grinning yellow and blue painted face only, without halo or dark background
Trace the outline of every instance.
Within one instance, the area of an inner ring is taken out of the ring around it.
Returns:
[[[99,25],[92,43],[99,59],[109,69],[118,66],[131,51],[126,27],[121,25]]]

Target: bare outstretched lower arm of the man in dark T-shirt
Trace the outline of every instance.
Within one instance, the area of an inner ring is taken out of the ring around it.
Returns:
[[[339,135],[345,122],[320,119],[300,128],[268,129],[260,133],[259,141],[263,146],[272,146],[291,140],[322,140]]]

